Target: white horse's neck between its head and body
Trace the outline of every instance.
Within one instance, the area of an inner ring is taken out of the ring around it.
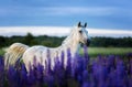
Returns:
[[[69,35],[64,40],[62,48],[65,51],[69,48],[72,55],[74,55],[75,53],[78,53],[79,42],[76,41],[76,39],[74,39],[72,35]]]

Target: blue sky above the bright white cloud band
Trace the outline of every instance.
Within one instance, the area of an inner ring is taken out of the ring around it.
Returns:
[[[132,0],[0,0],[0,26],[132,30]]]

